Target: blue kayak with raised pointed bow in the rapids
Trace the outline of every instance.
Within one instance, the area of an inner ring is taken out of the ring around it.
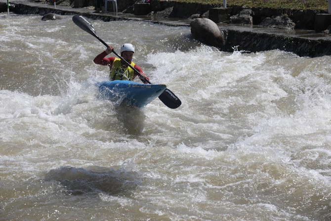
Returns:
[[[165,91],[165,85],[147,85],[132,81],[105,81],[98,84],[100,97],[116,104],[143,107]]]

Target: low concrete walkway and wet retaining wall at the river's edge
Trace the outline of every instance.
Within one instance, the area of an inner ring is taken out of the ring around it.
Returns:
[[[0,0],[0,4],[3,3],[4,0]],[[190,22],[193,20],[190,18],[167,19],[152,15],[135,15],[123,12],[119,12],[118,15],[113,13],[94,13],[94,8],[91,9],[91,7],[74,8],[57,5],[54,8],[52,5],[27,0],[16,0],[11,2],[11,4],[13,6],[10,8],[10,11],[17,14],[82,14],[89,19],[100,19],[103,21],[140,20],[169,26],[190,26]],[[318,19],[330,18],[329,16],[320,16]],[[217,23],[217,25],[224,35],[224,44],[218,47],[223,51],[232,52],[235,47],[246,52],[279,49],[293,52],[298,56],[318,57],[331,55],[331,34],[325,32],[304,29],[282,30],[263,28],[256,25],[235,26],[226,23]]]

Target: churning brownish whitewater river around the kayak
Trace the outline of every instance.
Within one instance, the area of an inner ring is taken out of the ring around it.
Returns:
[[[71,16],[0,14],[0,221],[331,219],[331,56],[91,22],[182,105],[102,100],[105,47]]]

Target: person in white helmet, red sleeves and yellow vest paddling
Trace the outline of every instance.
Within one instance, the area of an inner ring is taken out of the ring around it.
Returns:
[[[133,81],[133,79],[137,76],[132,68],[130,68],[124,61],[121,61],[120,58],[117,57],[106,57],[114,50],[114,47],[108,45],[105,51],[102,51],[98,54],[93,62],[95,64],[107,65],[110,68],[109,78],[110,80],[129,80]],[[124,58],[133,68],[135,68],[142,76],[144,76],[147,80],[149,78],[142,72],[141,68],[132,62],[132,57],[134,53],[134,46],[132,44],[123,44],[121,46],[121,57]],[[140,80],[144,84],[148,84],[148,82],[144,81],[140,78]]]

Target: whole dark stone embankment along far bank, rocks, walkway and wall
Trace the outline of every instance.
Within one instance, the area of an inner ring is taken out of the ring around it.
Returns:
[[[0,11],[4,12],[3,5]],[[163,1],[154,0],[152,4],[139,3],[135,0],[121,0],[118,3],[120,13],[118,16],[108,13],[95,13],[94,6],[89,5],[93,0],[62,0],[61,4],[52,7],[51,4],[42,4],[42,0],[16,0],[12,1],[14,7],[11,11],[17,14],[40,14],[55,13],[59,15],[72,15],[81,13],[90,19],[100,19],[104,21],[112,20],[146,20],[154,23],[163,23],[166,25],[187,25],[194,18],[207,17],[218,24],[218,27],[224,35],[224,44],[218,46],[220,50],[233,51],[234,47],[238,50],[247,52],[257,52],[263,50],[280,49],[296,53],[299,56],[323,56],[331,55],[331,35],[326,32],[315,31],[316,25],[328,27],[326,23],[317,23],[318,14],[326,14],[323,11],[314,10],[290,10],[290,9],[270,9],[270,8],[250,8],[252,24],[234,25],[228,23],[231,16],[238,15],[244,8],[241,6],[231,6],[222,9],[221,5],[208,5],[196,3],[182,3],[174,0]],[[43,0],[50,1],[50,0]],[[52,3],[53,0],[51,0]],[[110,2],[111,3],[111,2]],[[90,6],[90,7],[86,7]],[[108,5],[109,11],[112,10],[112,4]],[[145,9],[142,9],[144,8]],[[146,9],[146,7],[148,7]],[[139,11],[137,9],[139,8]],[[6,8],[5,8],[6,11]],[[147,15],[141,15],[149,13]],[[215,14],[215,11],[217,13]],[[295,23],[294,30],[262,28],[259,25],[263,19],[286,15]],[[327,15],[329,16],[329,15]],[[167,20],[167,18],[171,18]],[[173,18],[178,18],[174,21]],[[170,21],[171,20],[171,21]],[[331,21],[330,21],[331,22]],[[320,28],[321,29],[321,28]]]

